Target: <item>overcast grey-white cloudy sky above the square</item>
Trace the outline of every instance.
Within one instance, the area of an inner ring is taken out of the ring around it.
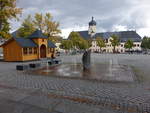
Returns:
[[[136,30],[150,36],[150,0],[17,0],[17,6],[23,8],[21,20],[36,12],[52,13],[63,37],[73,30],[87,30],[92,16],[97,32]],[[11,23],[12,31],[20,26]]]

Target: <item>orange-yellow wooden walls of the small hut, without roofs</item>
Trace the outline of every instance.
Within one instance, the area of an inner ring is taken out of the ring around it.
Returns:
[[[18,45],[15,40],[12,40],[3,46],[4,49],[4,60],[5,61],[28,61],[28,60],[36,60],[40,59],[40,47],[42,44],[46,46],[46,56],[47,58],[51,58],[52,54],[55,56],[54,52],[49,53],[47,47],[47,39],[33,39],[35,43],[39,46],[37,47],[37,54],[24,54],[23,48]]]

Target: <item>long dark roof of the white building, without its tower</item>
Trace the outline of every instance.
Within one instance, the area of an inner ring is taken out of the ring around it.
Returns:
[[[90,39],[90,35],[88,31],[77,31],[81,37],[85,40]],[[132,40],[134,42],[140,42],[141,37],[135,31],[120,31],[120,32],[103,32],[103,33],[96,33],[95,37],[102,37],[103,39],[108,39],[112,35],[117,35],[120,38],[121,42],[126,42],[127,40]]]

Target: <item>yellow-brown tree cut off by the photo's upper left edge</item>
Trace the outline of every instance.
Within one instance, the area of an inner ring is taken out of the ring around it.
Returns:
[[[10,30],[10,19],[18,19],[17,15],[22,12],[16,7],[16,0],[0,0],[0,36],[8,38]]]

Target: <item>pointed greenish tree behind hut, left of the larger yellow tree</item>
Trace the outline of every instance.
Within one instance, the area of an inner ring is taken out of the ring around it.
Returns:
[[[28,37],[35,31],[35,26],[32,20],[31,15],[28,15],[26,19],[24,19],[21,27],[18,30],[18,36],[20,37]]]

